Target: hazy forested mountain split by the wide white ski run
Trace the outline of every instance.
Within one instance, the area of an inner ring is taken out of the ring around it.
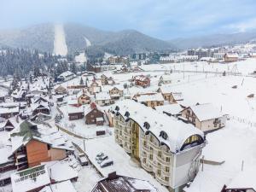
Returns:
[[[128,55],[134,52],[174,48],[165,41],[151,38],[134,30],[106,32],[89,26],[67,24],[64,25],[64,32],[67,49],[70,54],[87,49],[89,55],[102,55],[105,51],[111,54]],[[0,32],[0,45],[2,47],[38,49],[38,51],[52,52],[54,38],[54,25],[42,24]]]

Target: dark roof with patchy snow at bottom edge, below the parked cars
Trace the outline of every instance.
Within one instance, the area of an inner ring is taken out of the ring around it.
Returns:
[[[144,192],[158,192],[158,189],[148,181],[137,179],[133,177],[119,176],[116,172],[108,174],[108,177],[98,181],[90,192],[109,192],[114,189],[116,192],[129,191],[144,191]]]

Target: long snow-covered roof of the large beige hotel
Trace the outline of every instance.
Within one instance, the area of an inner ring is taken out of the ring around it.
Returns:
[[[125,117],[126,112],[129,112],[130,119],[135,120],[137,124],[141,126],[143,131],[151,131],[160,142],[166,143],[172,153],[179,152],[186,139],[193,135],[199,135],[204,138],[204,133],[193,125],[184,124],[177,119],[159,113],[138,102],[124,100],[117,102],[114,106],[119,106],[119,113],[123,117]],[[114,109],[115,107],[113,107],[112,110],[116,112]],[[145,122],[150,125],[149,130],[144,127]],[[168,135],[166,140],[160,137],[161,131],[165,131]]]

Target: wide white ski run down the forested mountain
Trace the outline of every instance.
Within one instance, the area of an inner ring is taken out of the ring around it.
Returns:
[[[60,24],[55,25],[54,54],[61,56],[67,55],[67,44],[64,27]]]

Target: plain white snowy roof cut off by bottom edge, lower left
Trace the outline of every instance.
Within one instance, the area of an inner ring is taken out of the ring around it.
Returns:
[[[39,192],[76,192],[74,189],[73,183],[70,181],[65,181],[61,183],[51,184],[41,189]]]

